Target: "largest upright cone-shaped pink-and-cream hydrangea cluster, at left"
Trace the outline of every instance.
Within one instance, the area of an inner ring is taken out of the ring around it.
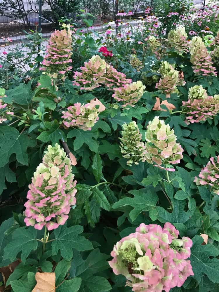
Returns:
[[[43,162],[37,166],[27,193],[24,219],[27,226],[48,230],[64,225],[77,192],[71,160],[57,143],[48,146]]]

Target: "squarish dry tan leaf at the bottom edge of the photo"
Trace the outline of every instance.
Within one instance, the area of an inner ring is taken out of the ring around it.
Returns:
[[[55,273],[39,273],[35,275],[36,286],[32,292],[55,292]]]

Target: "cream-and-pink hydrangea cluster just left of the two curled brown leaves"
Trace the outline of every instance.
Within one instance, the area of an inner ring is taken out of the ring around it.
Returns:
[[[113,88],[113,90],[114,94],[112,97],[118,101],[124,102],[122,107],[126,107],[127,105],[134,107],[134,104],[142,97],[145,86],[142,84],[142,81],[138,80],[131,84],[124,84],[121,87]]]

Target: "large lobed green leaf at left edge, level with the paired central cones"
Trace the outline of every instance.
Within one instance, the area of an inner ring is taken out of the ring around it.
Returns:
[[[27,147],[34,147],[36,140],[25,134],[20,134],[16,128],[0,127],[0,167],[6,165],[11,154],[15,153],[17,161],[28,164]]]

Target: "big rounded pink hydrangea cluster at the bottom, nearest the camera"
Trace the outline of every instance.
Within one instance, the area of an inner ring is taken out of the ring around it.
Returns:
[[[187,259],[192,240],[178,239],[179,231],[171,223],[163,228],[141,223],[135,231],[114,245],[109,261],[114,274],[124,275],[132,291],[169,292],[194,275]]]

